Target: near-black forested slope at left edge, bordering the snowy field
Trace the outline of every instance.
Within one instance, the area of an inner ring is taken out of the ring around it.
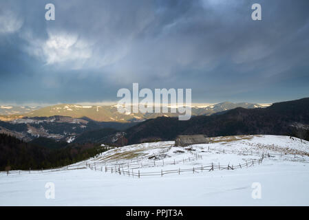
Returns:
[[[29,170],[66,166],[105,151],[99,144],[68,144],[47,148],[0,134],[0,170]]]

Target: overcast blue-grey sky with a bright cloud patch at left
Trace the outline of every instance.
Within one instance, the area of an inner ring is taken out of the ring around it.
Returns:
[[[0,0],[0,103],[115,102],[132,83],[192,89],[196,103],[308,97],[308,9],[308,0]]]

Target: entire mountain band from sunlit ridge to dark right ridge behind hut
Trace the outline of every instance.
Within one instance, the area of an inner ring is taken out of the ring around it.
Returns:
[[[57,113],[59,115],[56,115]],[[107,115],[119,118],[118,121],[101,122],[85,115],[92,118],[100,115],[101,119]],[[140,113],[140,120],[133,120],[136,115],[120,114],[115,106],[83,107],[61,104],[0,121],[0,133],[18,137],[26,142],[38,137],[47,137],[57,142],[94,142],[115,146],[174,140],[177,135],[186,134],[274,134],[306,138],[309,131],[309,98],[278,102],[265,108],[258,104],[231,102],[222,102],[210,107],[193,107],[193,117],[187,121],[180,121],[177,115],[171,113]]]

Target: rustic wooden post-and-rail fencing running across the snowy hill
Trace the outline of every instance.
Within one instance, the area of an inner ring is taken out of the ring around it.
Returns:
[[[167,153],[169,149],[164,149],[160,151],[160,153]],[[215,152],[215,153],[237,153],[238,155],[254,155],[257,157],[261,157],[261,159],[253,159],[253,165],[256,163],[262,162],[264,157],[286,157],[288,159],[302,159],[303,162],[306,162],[306,159],[303,159],[303,157],[308,156],[306,154],[299,155],[295,150],[295,153],[260,153],[260,151],[253,151],[253,150],[225,150],[223,149],[222,151],[217,150],[217,149],[211,149],[208,148],[208,152]],[[6,173],[7,175],[20,175],[23,173],[50,173],[50,172],[56,172],[56,171],[61,171],[61,170],[75,170],[75,169],[84,169],[84,168],[91,168],[92,170],[100,170],[100,171],[105,171],[105,172],[111,172],[111,173],[120,173],[123,175],[129,175],[133,177],[141,177],[143,175],[165,175],[168,173],[183,173],[183,172],[193,172],[193,173],[198,173],[198,170],[203,171],[203,170],[215,170],[215,169],[235,169],[235,168],[242,168],[244,166],[250,166],[250,164],[239,164],[237,166],[220,166],[220,165],[207,165],[207,166],[201,166],[199,168],[190,168],[190,169],[178,169],[178,170],[161,170],[161,172],[155,172],[153,174],[151,173],[140,173],[134,172],[134,170],[140,169],[140,168],[146,168],[146,167],[153,167],[153,166],[165,166],[165,165],[175,165],[175,164],[184,164],[185,162],[191,162],[195,161],[198,159],[202,159],[202,155],[198,155],[198,153],[192,153],[194,157],[188,157],[185,159],[179,159],[179,160],[173,160],[173,161],[164,161],[164,159],[156,160],[153,159],[153,162],[145,162],[145,159],[131,159],[129,162],[109,162],[108,164],[106,162],[85,162],[85,164],[73,164],[69,166],[63,166],[63,167],[56,167],[56,168],[48,168],[48,169],[32,169],[29,168],[29,170],[10,170],[10,171],[1,171],[0,173]],[[257,160],[257,161],[256,161]],[[103,169],[103,164],[104,164],[104,169]],[[211,166],[211,168],[210,168]],[[130,171],[131,170],[131,171]],[[140,173],[140,174],[138,174]]]

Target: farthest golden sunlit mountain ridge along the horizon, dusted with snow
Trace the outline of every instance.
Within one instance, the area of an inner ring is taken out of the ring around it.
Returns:
[[[72,118],[87,117],[98,122],[142,122],[150,118],[157,118],[159,116],[177,117],[178,113],[119,113],[117,105],[110,106],[94,106],[94,105],[80,105],[80,104],[56,104],[49,107],[9,107],[2,106],[0,109],[0,120],[11,121],[18,118],[28,117],[50,117],[54,115],[67,116]],[[233,103],[222,102],[213,104],[209,107],[192,107],[192,115],[211,115],[229,109],[242,107],[246,109],[260,108],[260,104],[251,104],[247,102]],[[24,110],[21,112],[21,109]],[[19,114],[17,114],[19,110]],[[170,109],[169,109],[170,112]],[[1,115],[2,114],[2,115]]]

